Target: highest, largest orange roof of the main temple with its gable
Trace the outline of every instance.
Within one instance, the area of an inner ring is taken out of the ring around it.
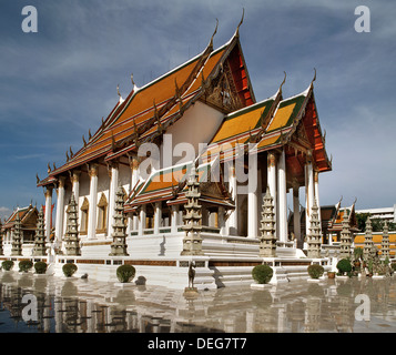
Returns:
[[[221,75],[219,75],[221,73]],[[227,100],[222,93],[229,91]],[[111,161],[138,151],[144,142],[155,142],[166,129],[183,116],[194,102],[201,101],[230,113],[255,102],[247,68],[238,40],[213,50],[213,37],[197,57],[177,67],[143,88],[136,88],[114,109],[89,141],[74,154],[67,152],[67,163],[49,169],[49,176],[38,186],[57,181],[57,176],[95,159]]]

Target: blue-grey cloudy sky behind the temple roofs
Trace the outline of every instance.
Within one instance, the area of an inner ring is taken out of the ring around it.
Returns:
[[[24,33],[22,8],[38,11]],[[370,32],[355,31],[355,8]],[[241,42],[257,100],[304,91],[315,97],[333,172],[321,203],[358,209],[396,203],[396,6],[369,0],[0,0],[0,216],[44,203],[35,174],[65,162],[94,132],[133,73],[139,87],[196,55],[219,19],[215,48],[241,20]],[[54,197],[55,200],[55,197]]]

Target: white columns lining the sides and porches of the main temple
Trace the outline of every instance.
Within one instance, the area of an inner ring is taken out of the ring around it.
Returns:
[[[251,165],[251,164],[250,164]],[[254,165],[254,164],[253,164]],[[247,192],[247,237],[258,237],[258,221],[260,212],[262,204],[262,181],[261,181],[261,170],[260,166],[254,165],[250,166],[250,174],[257,174],[257,184],[255,189]],[[286,158],[285,151],[282,150],[280,153],[268,152],[267,153],[267,164],[266,164],[266,176],[267,185],[270,187],[270,193],[274,201],[274,212],[275,212],[275,227],[276,235],[280,242],[287,242],[288,240],[288,221],[287,221],[287,185],[286,185]],[[135,186],[140,176],[139,176],[139,161],[136,159],[130,160],[131,169],[131,181],[130,190]],[[88,175],[90,178],[89,182],[89,213],[88,213],[88,240],[95,237],[97,231],[97,204],[98,204],[98,164],[88,165]],[[306,164],[304,166],[305,172],[305,204],[306,204],[306,234],[309,232],[309,219],[311,219],[311,209],[316,199],[316,204],[319,205],[319,194],[318,194],[318,174],[314,171],[312,156],[307,154]],[[219,207],[217,210],[217,223],[216,225],[220,229],[222,235],[237,235],[238,231],[238,194],[237,194],[237,179],[235,176],[235,168],[233,164],[227,165],[229,174],[229,189],[232,195],[233,201],[235,202],[235,210],[231,213],[227,213],[227,219],[224,207]],[[73,171],[71,173],[72,182],[72,193],[74,194],[75,201],[79,201],[80,192],[80,171]],[[110,187],[109,187],[109,206],[108,206],[108,236],[112,234],[112,219],[114,213],[114,203],[115,203],[115,191],[119,184],[119,164],[111,164],[109,166],[109,176],[110,176]],[[65,214],[65,178],[60,176],[57,187],[57,215],[55,215],[55,239],[57,241],[62,240],[63,229],[64,229],[64,214]],[[51,220],[51,203],[52,203],[52,189],[48,187],[45,190],[45,222]],[[177,232],[177,225],[182,224],[177,205],[171,206],[169,214],[170,217],[170,227],[171,233]],[[293,183],[293,210],[294,210],[294,234],[297,239],[297,242],[301,241],[301,211],[299,211],[299,185],[296,181]],[[205,212],[204,212],[205,213]],[[148,216],[146,206],[142,205],[140,207],[139,214],[129,219],[128,232],[138,231],[138,234],[143,235],[143,231],[146,227],[145,221]],[[154,205],[153,214],[153,233],[160,233],[160,227],[162,224],[162,209],[160,203]],[[205,216],[203,216],[203,224],[205,223]],[[50,224],[45,223],[45,236],[47,240],[50,237]]]

